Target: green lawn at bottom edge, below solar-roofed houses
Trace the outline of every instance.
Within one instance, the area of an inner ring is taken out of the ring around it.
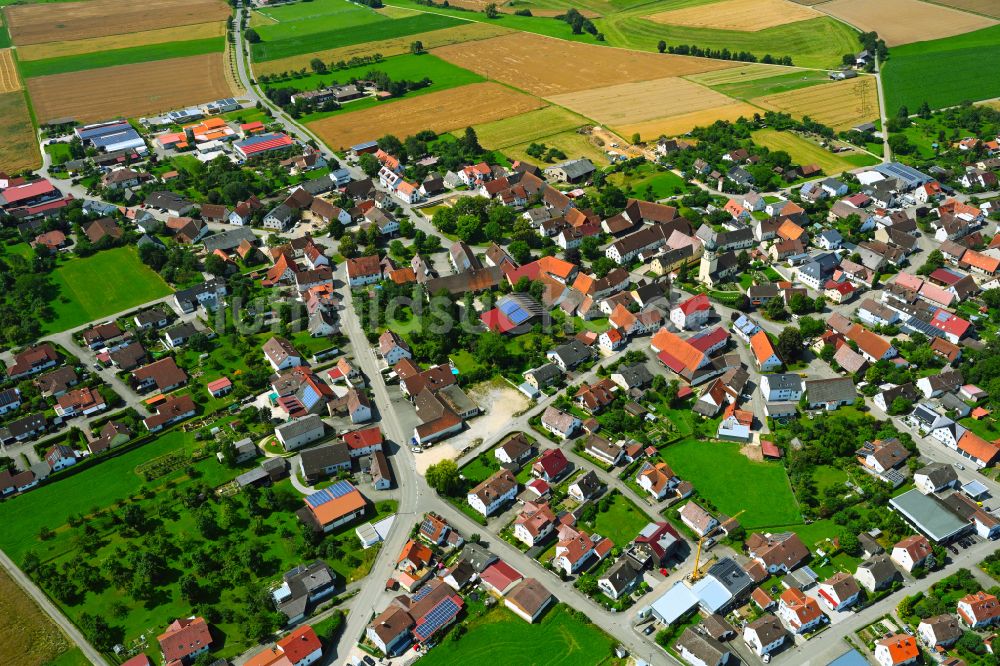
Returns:
[[[559,604],[528,624],[511,611],[495,607],[466,620],[467,632],[457,641],[445,639],[421,658],[423,666],[467,664],[487,659],[498,664],[578,666],[614,663],[616,641]]]

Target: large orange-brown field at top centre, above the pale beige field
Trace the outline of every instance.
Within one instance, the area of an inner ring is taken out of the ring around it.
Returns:
[[[434,55],[542,97],[736,66],[726,60],[594,46],[527,32],[445,46],[434,49]]]

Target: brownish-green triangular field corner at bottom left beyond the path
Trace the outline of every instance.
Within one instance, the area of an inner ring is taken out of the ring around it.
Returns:
[[[90,663],[6,571],[0,571],[0,617],[4,618],[0,662],[30,666]]]

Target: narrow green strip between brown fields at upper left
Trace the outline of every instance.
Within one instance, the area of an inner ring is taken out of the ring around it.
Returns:
[[[225,37],[209,37],[208,39],[194,39],[187,42],[167,42],[166,44],[149,44],[127,49],[82,53],[61,58],[22,60],[18,63],[18,67],[21,70],[21,76],[31,78],[64,72],[78,72],[84,69],[184,58],[204,55],[205,53],[222,53],[225,48]]]

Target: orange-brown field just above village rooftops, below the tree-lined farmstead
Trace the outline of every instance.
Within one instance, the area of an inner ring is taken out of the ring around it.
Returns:
[[[309,123],[326,145],[343,148],[390,131],[400,138],[425,129],[447,132],[526,113],[545,103],[497,83],[473,83]]]

